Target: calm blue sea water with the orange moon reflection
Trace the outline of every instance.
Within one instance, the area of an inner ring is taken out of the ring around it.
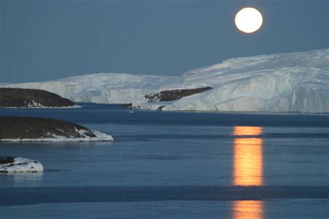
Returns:
[[[0,143],[42,174],[0,174],[0,218],[328,218],[329,116],[0,109],[113,142]]]

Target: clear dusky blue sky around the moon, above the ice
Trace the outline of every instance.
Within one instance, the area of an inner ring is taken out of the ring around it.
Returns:
[[[236,12],[258,8],[244,34]],[[83,73],[175,75],[227,58],[329,47],[329,0],[0,0],[0,82]]]

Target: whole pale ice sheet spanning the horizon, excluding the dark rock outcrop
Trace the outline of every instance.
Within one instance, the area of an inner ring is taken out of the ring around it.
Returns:
[[[142,109],[328,113],[329,49],[231,58],[181,77],[99,73],[4,86],[45,89],[76,102],[133,103]],[[212,89],[168,103],[144,98],[201,87]]]

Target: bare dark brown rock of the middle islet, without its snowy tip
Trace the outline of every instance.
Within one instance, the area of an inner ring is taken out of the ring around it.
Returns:
[[[83,131],[83,134],[79,132]],[[44,139],[96,137],[92,130],[75,123],[35,117],[0,117],[0,139]]]

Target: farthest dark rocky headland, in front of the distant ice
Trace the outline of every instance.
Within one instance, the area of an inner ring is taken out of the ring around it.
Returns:
[[[0,88],[0,107],[71,107],[74,104],[40,89]]]

